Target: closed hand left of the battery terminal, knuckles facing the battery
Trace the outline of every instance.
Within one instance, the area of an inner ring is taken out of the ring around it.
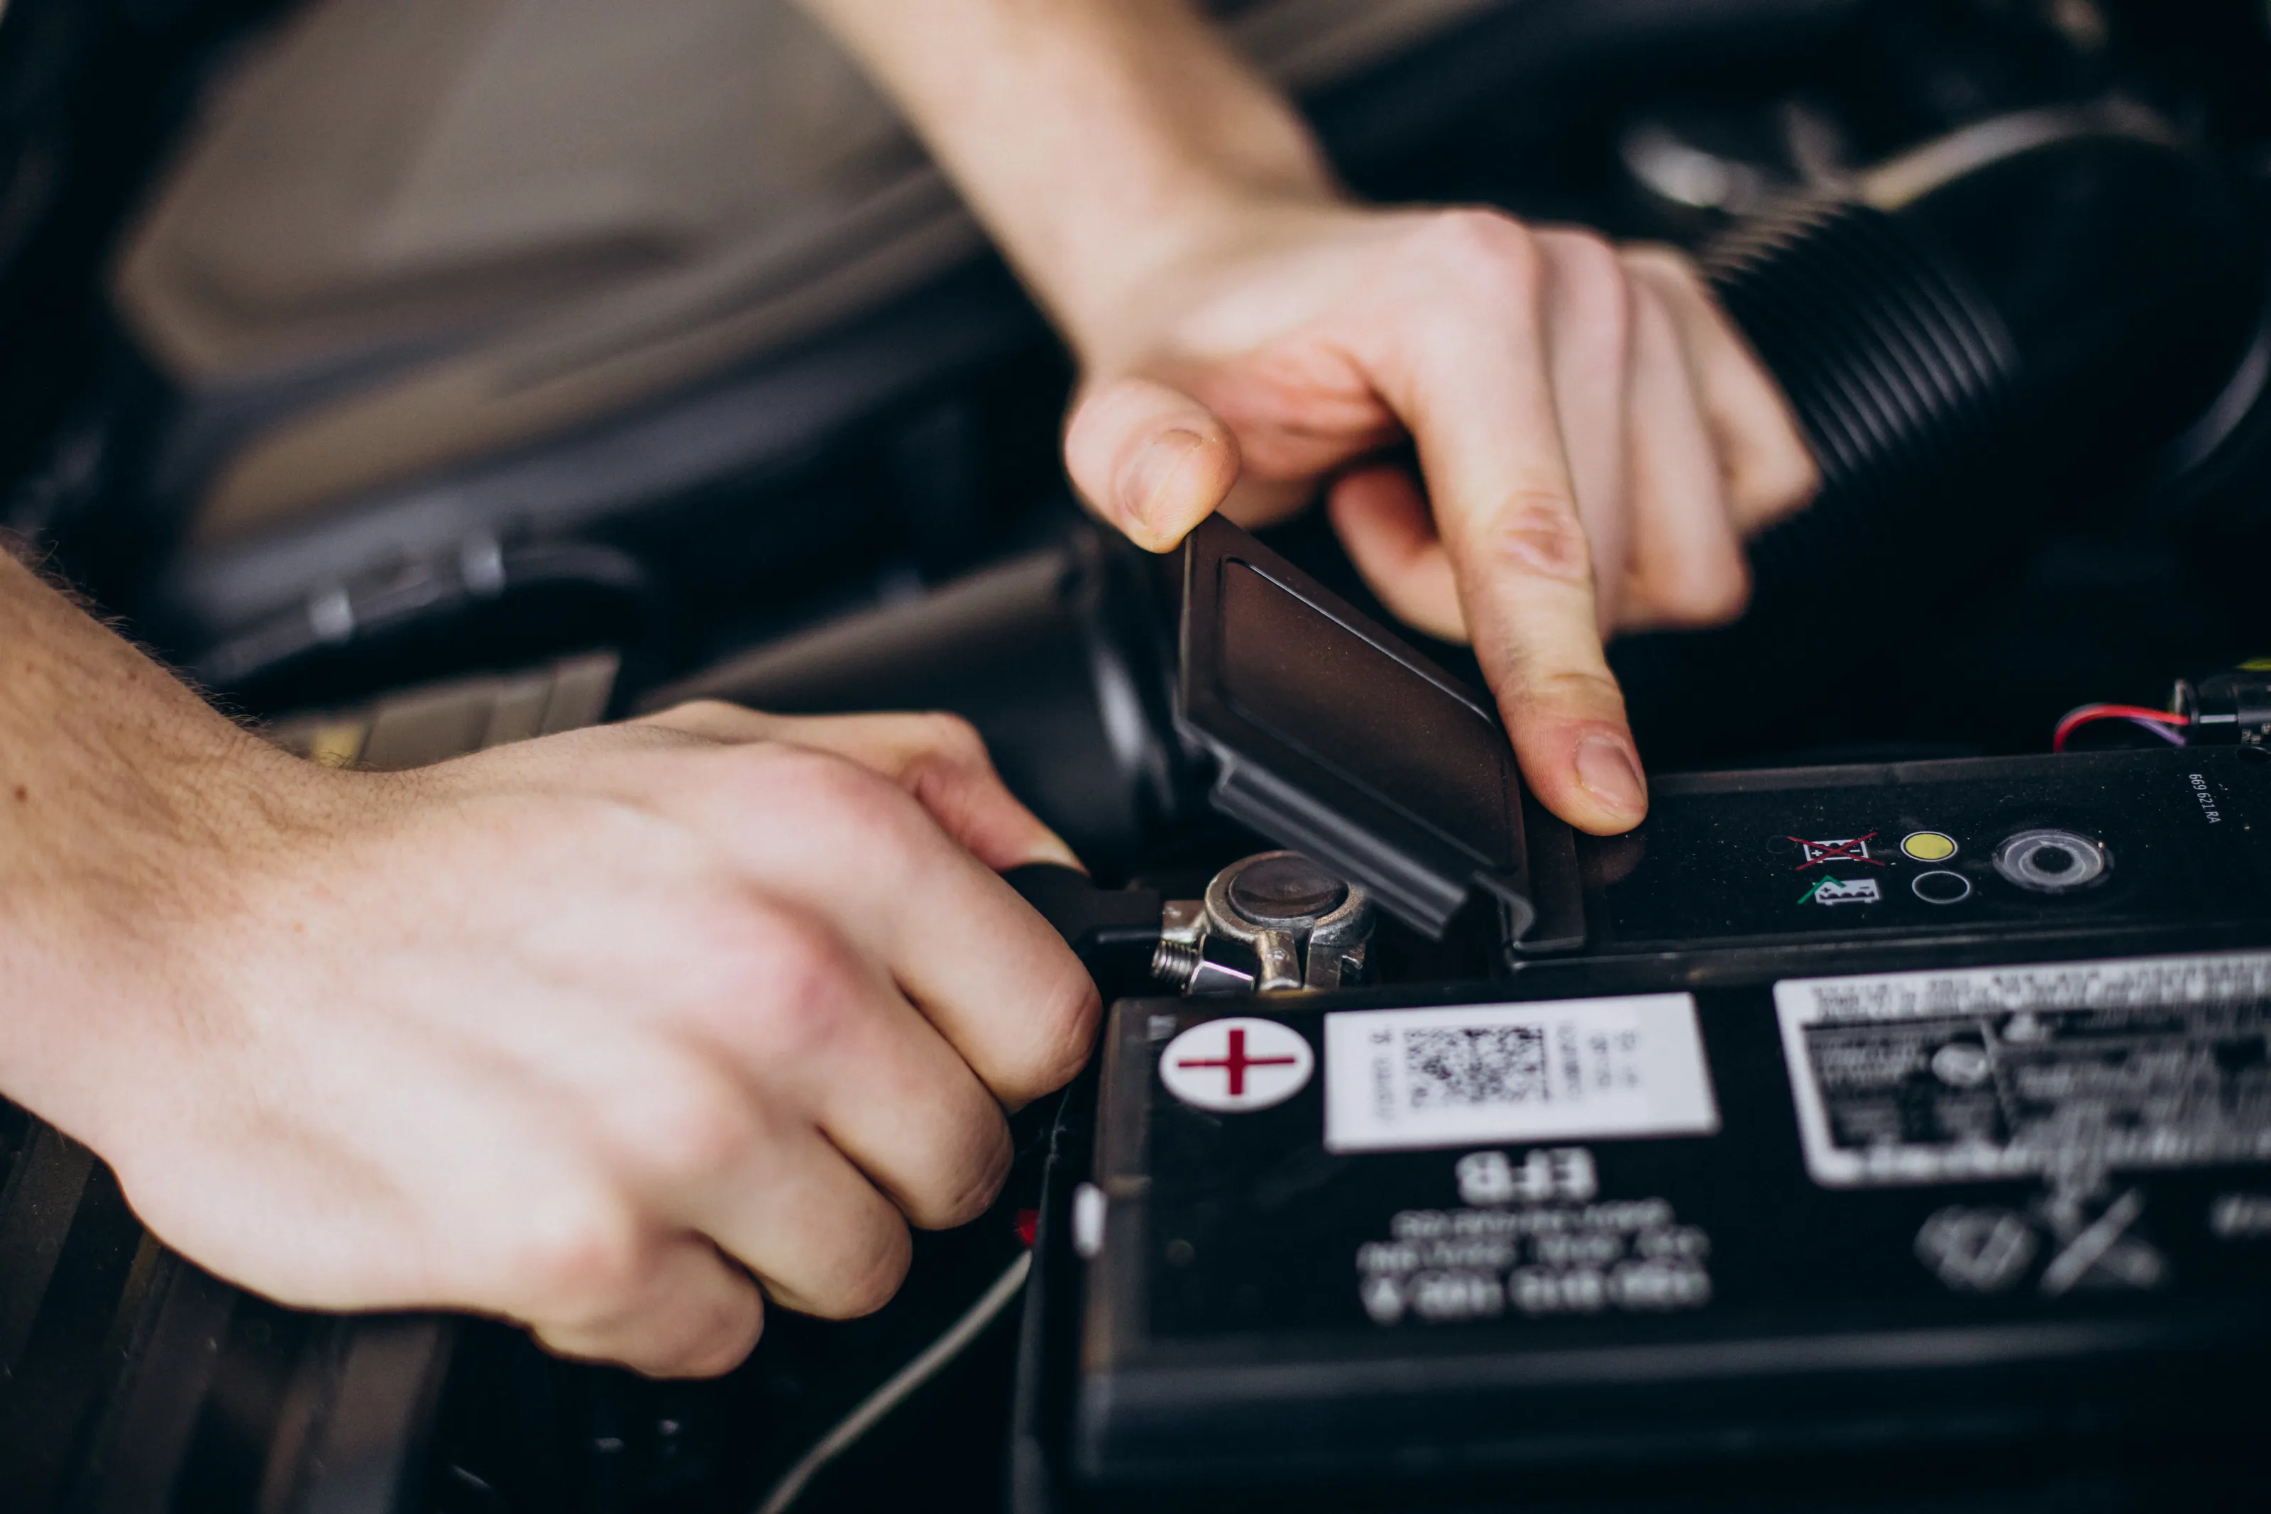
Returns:
[[[100,1051],[39,1103],[277,1301],[724,1371],[761,1289],[890,1298],[906,1226],[981,1214],[1004,1105],[1088,1053],[1095,987],[995,876],[1072,853],[956,720],[684,706],[409,774],[229,763],[254,783],[204,774],[157,949],[107,953]]]

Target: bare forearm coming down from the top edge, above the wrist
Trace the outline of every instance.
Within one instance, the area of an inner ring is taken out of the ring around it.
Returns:
[[[804,0],[883,82],[1076,345],[1256,207],[1333,197],[1292,107],[1188,0]]]

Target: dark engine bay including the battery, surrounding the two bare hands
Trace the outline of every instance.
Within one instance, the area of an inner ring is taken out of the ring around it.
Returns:
[[[1017,885],[1108,1028],[899,1298],[779,1312],[718,1382],[229,1289],[5,1108],[25,1507],[2246,1503],[2262,7],[1510,0],[1292,73],[1365,195],[1699,256],[1821,465],[1737,624],[1610,647],[1626,838],[1524,792],[1474,656],[1394,629],[1322,511],[1167,556],[1086,520],[1067,359],[974,247],[213,527],[368,370],[200,386],[139,334],[102,268],[275,7],[100,9],[0,27],[0,104],[73,148],[0,266],[0,524],[329,765],[686,699],[965,715],[1090,867]],[[95,134],[59,77],[166,86]]]

